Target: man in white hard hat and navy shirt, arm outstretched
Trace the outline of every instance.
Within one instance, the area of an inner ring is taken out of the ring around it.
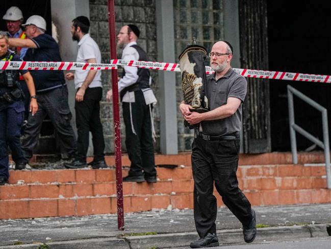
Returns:
[[[29,39],[9,38],[9,44],[15,47],[29,48],[26,61],[62,61],[58,43],[45,34],[46,21],[40,15],[30,16],[22,27]],[[68,88],[60,70],[32,70],[36,85],[39,109],[30,115],[23,131],[21,143],[26,163],[31,159],[37,145],[42,121],[48,115],[61,139],[63,149],[69,157],[75,157],[77,145],[70,125],[71,112],[68,105]]]

